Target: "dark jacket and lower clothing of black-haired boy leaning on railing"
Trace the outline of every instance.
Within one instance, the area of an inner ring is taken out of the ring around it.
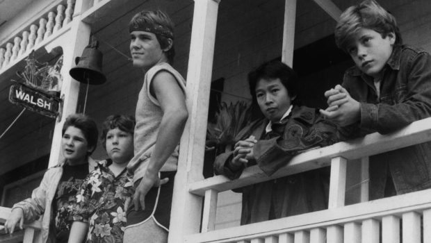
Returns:
[[[298,153],[336,142],[336,126],[325,121],[314,108],[294,107],[291,115],[266,134],[268,120],[254,121],[244,128],[238,137],[245,140],[257,137],[253,153],[258,165],[266,174],[273,174],[286,165]],[[233,152],[222,153],[215,159],[215,173],[230,179],[241,176],[245,167],[234,170],[229,167]],[[327,208],[329,167],[306,171],[272,181],[257,183],[238,189],[243,192],[241,224],[298,215]]]

